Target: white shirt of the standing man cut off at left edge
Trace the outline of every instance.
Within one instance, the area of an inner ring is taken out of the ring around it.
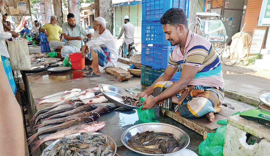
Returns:
[[[6,58],[9,58],[5,40],[10,39],[12,35],[10,32],[4,32],[2,19],[3,19],[3,15],[0,13],[0,53],[1,53],[1,56],[5,56]]]

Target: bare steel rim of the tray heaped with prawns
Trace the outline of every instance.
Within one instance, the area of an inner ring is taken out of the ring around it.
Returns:
[[[115,153],[116,153],[116,150],[117,150],[117,146],[116,146],[116,143],[115,143],[115,141],[110,137],[110,136],[108,136],[108,135],[106,135],[106,134],[102,134],[102,133],[98,133],[98,132],[84,132],[84,133],[87,133],[88,135],[95,135],[95,134],[100,134],[100,135],[103,135],[103,137],[107,137],[108,139],[110,139],[112,142],[113,142],[113,144],[111,145],[112,146],[112,148],[113,148],[113,155],[112,156],[114,156],[115,155]],[[75,137],[75,136],[78,136],[78,135],[81,135],[81,134],[84,134],[84,133],[74,133],[74,134],[71,134],[71,135],[68,135],[68,136],[66,136],[66,137],[69,137],[69,138],[72,138],[72,137]],[[65,137],[65,138],[66,138]],[[61,139],[61,138],[60,138]],[[52,144],[50,144],[46,149],[44,149],[44,151],[42,152],[42,155],[41,156],[48,156],[48,154],[49,154],[49,151],[60,141],[60,139],[58,139],[58,140],[55,140]]]

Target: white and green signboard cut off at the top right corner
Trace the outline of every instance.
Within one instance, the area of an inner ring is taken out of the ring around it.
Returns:
[[[263,0],[258,26],[270,26],[270,0]]]

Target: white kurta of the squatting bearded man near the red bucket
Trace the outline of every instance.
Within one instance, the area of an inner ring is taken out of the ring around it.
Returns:
[[[108,29],[105,29],[99,37],[88,41],[86,45],[89,49],[94,46],[106,47],[110,52],[110,61],[107,63],[104,69],[106,67],[116,67],[116,61],[118,59],[116,42]]]

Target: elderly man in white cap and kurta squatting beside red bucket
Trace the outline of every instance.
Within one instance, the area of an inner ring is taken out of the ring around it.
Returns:
[[[85,73],[86,77],[100,76],[98,65],[103,67],[116,67],[118,53],[116,42],[111,32],[106,29],[106,21],[103,17],[97,17],[93,26],[94,39],[88,41],[82,48],[82,57],[88,56],[92,61],[90,67],[92,71]],[[89,50],[88,50],[89,49]]]

